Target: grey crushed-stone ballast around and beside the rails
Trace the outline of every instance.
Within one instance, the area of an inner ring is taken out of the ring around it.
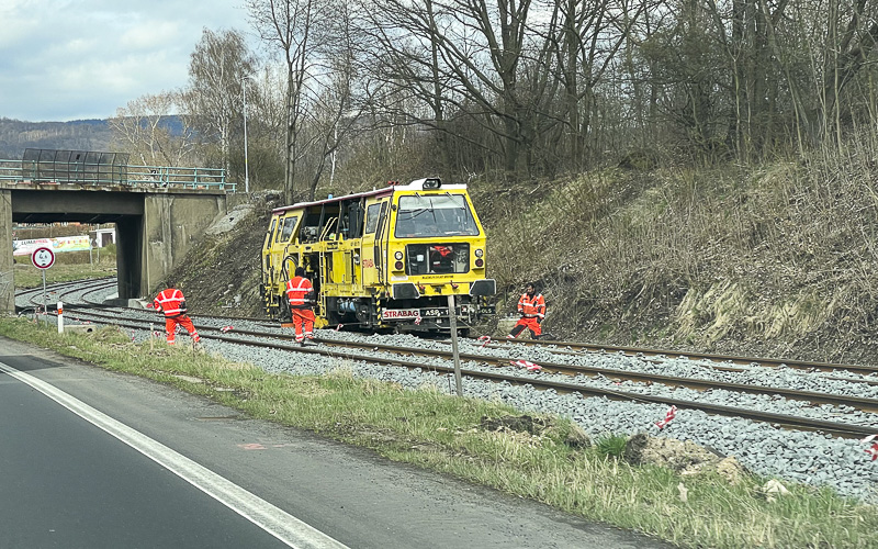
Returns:
[[[111,291],[113,290],[108,290],[106,293]],[[67,299],[72,302],[77,298],[68,296]],[[95,294],[90,294],[88,299],[94,300],[97,298]],[[65,312],[66,322],[72,322],[72,318],[77,316],[75,306],[68,305]],[[130,313],[131,311],[126,311],[126,315]],[[156,323],[155,329],[164,329],[162,321],[155,312],[138,311],[135,314],[145,321]],[[237,329],[267,329],[264,325],[246,321],[196,317],[195,322],[198,325],[217,328],[232,324]],[[146,340],[149,337],[148,329],[131,332],[134,339],[138,341]],[[243,339],[251,338],[236,335],[235,332],[233,329],[227,335]],[[274,332],[286,336],[292,333],[291,329],[281,329],[280,327],[274,328]],[[205,332],[205,334],[207,333]],[[324,329],[316,330],[316,336],[325,339],[405,346],[413,349],[450,349],[450,345],[447,341],[427,340],[409,335],[376,336]],[[179,340],[185,344],[188,335],[183,334]],[[390,381],[408,389],[434,386],[449,394],[454,394],[453,377],[430,370],[432,366],[450,366],[450,361],[437,360],[431,362],[428,359],[418,358],[417,360],[424,362],[424,368],[418,371],[409,371],[404,368],[368,365],[340,357],[327,358],[285,350],[251,348],[212,339],[205,340],[204,347],[207,351],[216,352],[229,360],[250,362],[270,372],[323,374],[337,369],[347,369],[358,377]],[[481,344],[474,339],[461,340],[460,351],[525,359],[537,363],[541,361],[576,363],[615,370],[653,372],[665,376],[878,399],[877,386],[857,381],[863,379],[876,380],[878,378],[875,376],[864,377],[851,372],[812,373],[788,368],[767,369],[756,365],[741,367],[744,369],[742,372],[727,372],[711,368],[709,362],[685,358],[665,357],[656,362],[654,357],[645,360],[640,357],[627,357],[616,354],[569,354],[569,351],[560,354],[553,352],[552,349],[533,349],[524,345],[481,347]],[[353,349],[350,352],[365,354],[368,351]],[[385,355],[376,350],[371,354]],[[736,366],[740,367],[739,365]],[[461,368],[464,370],[496,371],[484,365],[471,361],[462,361]],[[551,374],[531,373],[521,369],[519,370],[519,376],[544,378]],[[830,379],[838,377],[845,379]],[[562,376],[560,379],[571,381],[569,377]],[[778,414],[867,425],[875,427],[875,433],[878,434],[878,415],[864,413],[849,406],[815,406],[807,402],[790,401],[776,395],[754,395],[720,390],[698,392],[689,389],[673,389],[657,383],[645,384],[631,381],[614,383],[606,378],[578,377],[576,382],[610,390],[697,400]],[[878,486],[878,461],[871,461],[866,452],[869,445],[858,440],[832,438],[829,435],[815,433],[785,430],[748,419],[709,415],[691,410],[679,411],[676,418],[663,430],[660,430],[655,426],[655,422],[665,417],[665,413],[668,410],[666,405],[610,401],[604,397],[584,397],[579,394],[559,394],[551,390],[537,391],[529,385],[517,386],[508,383],[492,383],[466,377],[463,380],[463,388],[464,394],[469,397],[497,400],[526,412],[550,413],[570,417],[593,437],[609,433],[617,435],[646,433],[652,436],[691,440],[720,455],[735,456],[744,467],[753,472],[778,478],[781,481],[800,482],[813,486],[830,486],[843,495],[858,497],[869,503],[878,503],[878,488],[876,488]]]

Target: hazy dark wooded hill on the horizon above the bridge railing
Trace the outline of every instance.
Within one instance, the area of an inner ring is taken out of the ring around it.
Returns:
[[[25,148],[109,150],[112,137],[105,120],[24,122],[0,117],[0,160],[19,160]]]

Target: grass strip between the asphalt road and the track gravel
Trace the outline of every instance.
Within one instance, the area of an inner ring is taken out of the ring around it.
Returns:
[[[729,484],[714,473],[632,467],[616,457],[612,435],[587,448],[566,444],[572,426],[560,418],[540,418],[545,428],[536,433],[486,428],[485,418],[520,412],[431,385],[405,391],[357,379],[345,361],[327,376],[293,377],[159,340],[135,345],[114,328],[58,335],[3,318],[0,335],[680,547],[876,547],[878,509],[829,490],[791,485],[788,495],[770,498],[757,477]]]

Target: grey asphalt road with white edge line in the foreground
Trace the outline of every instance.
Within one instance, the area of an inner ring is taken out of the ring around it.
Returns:
[[[668,547],[0,338],[0,549]]]

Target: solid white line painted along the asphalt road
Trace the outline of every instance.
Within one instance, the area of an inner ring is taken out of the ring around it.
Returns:
[[[49,383],[20,372],[3,362],[0,362],[0,371],[29,384],[70,412],[127,444],[288,546],[297,549],[347,548],[346,545],[308,526],[285,511]]]

